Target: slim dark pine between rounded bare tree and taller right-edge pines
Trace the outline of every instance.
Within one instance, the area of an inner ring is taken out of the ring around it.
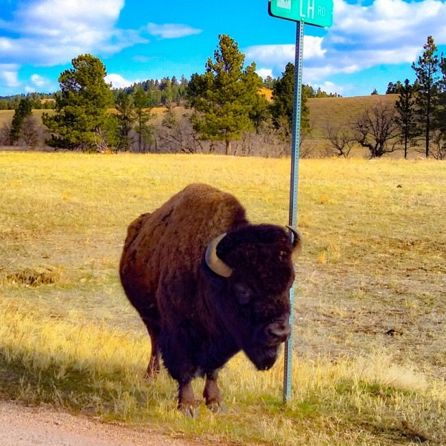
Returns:
[[[411,85],[408,79],[404,81],[404,84],[399,82],[397,86],[397,93],[399,93],[399,97],[395,103],[395,109],[397,110],[395,121],[399,127],[401,142],[404,143],[405,159],[408,157],[408,143],[417,134],[416,92],[418,89],[418,84],[415,83]]]

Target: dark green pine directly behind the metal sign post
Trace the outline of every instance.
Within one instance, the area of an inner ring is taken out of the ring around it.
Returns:
[[[272,90],[270,112],[274,126],[279,128],[283,119],[288,124],[287,133],[291,134],[294,108],[294,64],[288,62],[282,77]],[[307,88],[303,85],[301,92],[301,134],[309,131],[309,108],[307,105]]]

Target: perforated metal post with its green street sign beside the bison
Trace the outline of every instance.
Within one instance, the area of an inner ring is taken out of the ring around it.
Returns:
[[[296,22],[296,60],[294,64],[294,109],[291,151],[290,226],[297,226],[297,185],[299,174],[299,145],[301,141],[303,24],[329,27],[333,23],[333,0],[269,0],[270,16]],[[294,283],[290,288],[290,339],[285,343],[283,371],[283,402],[291,398],[292,352],[294,331]]]

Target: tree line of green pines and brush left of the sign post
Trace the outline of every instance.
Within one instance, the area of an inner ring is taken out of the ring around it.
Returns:
[[[180,81],[164,78],[112,90],[102,61],[80,55],[60,73],[54,113],[42,115],[45,144],[93,152],[284,155],[290,147],[294,65],[287,64],[282,77],[274,80],[270,104],[261,94],[264,84],[255,73],[255,62],[245,66],[244,59],[233,38],[222,34],[204,73],[194,73],[189,81],[184,76]],[[309,128],[306,92],[303,88],[304,132]],[[161,119],[154,118],[152,109],[159,103],[165,106]],[[116,111],[110,111],[113,105]],[[23,140],[32,145],[35,119],[24,111],[29,108],[30,101],[21,98],[13,122],[1,129],[3,143],[9,139],[13,144]],[[23,132],[27,137],[22,137]]]

